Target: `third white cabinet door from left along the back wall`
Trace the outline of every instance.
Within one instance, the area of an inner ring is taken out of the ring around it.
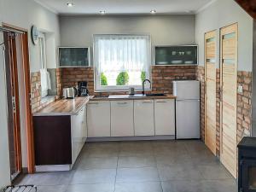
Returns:
[[[135,136],[154,136],[154,100],[134,101]]]

